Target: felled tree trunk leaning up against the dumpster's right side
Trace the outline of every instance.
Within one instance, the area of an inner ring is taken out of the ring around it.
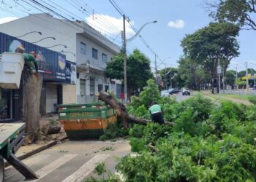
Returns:
[[[135,116],[132,116],[131,114],[128,114],[126,111],[126,108],[123,103],[118,102],[115,98],[112,97],[112,95],[108,94],[108,92],[101,91],[99,92],[99,100],[104,101],[109,106],[114,108],[116,110],[116,114],[118,116],[121,116],[124,128],[128,128],[129,122],[134,122],[137,124],[147,124],[149,121],[146,119],[141,119]],[[169,126],[173,126],[173,122],[165,122],[165,124]]]

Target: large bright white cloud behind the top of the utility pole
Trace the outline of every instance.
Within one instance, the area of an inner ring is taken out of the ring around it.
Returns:
[[[116,18],[110,17],[109,15],[100,15],[94,14],[94,16],[90,15],[86,17],[86,21],[91,25],[91,27],[95,28],[97,31],[102,34],[118,34],[123,30],[123,17]],[[133,22],[132,22],[133,24]],[[127,38],[134,35],[135,32],[132,30],[131,25],[126,22],[126,35]],[[111,35],[113,36],[113,35]]]

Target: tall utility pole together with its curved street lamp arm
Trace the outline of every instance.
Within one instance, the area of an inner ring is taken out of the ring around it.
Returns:
[[[129,39],[126,39],[126,33],[125,33],[125,20],[126,17],[123,15],[123,20],[124,20],[124,31],[123,31],[123,52],[124,52],[124,102],[127,103],[127,42],[134,40],[139,34],[140,31],[148,24],[150,23],[157,23],[157,21],[153,22],[148,22],[145,23],[141,28],[137,31],[137,33],[132,36]]]

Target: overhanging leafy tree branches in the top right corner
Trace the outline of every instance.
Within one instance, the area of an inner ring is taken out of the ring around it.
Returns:
[[[255,3],[255,0],[218,0],[206,2],[206,5],[210,8],[210,16],[218,22],[236,23],[243,29],[256,31]]]

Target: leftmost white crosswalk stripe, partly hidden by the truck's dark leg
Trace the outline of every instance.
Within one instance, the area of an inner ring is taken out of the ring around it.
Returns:
[[[38,154],[34,157],[29,157],[28,159],[24,159],[23,162],[25,165],[29,166],[35,162],[42,162],[43,160],[47,159],[49,156],[50,154]],[[10,178],[11,176],[16,175],[18,173],[19,172],[10,165],[10,167],[7,167],[6,169],[4,179]]]

